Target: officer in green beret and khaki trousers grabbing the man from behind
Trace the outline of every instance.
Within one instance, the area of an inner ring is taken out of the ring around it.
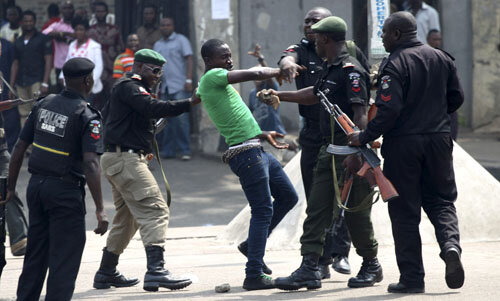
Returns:
[[[147,155],[152,152],[155,118],[188,112],[199,100],[152,98],[151,88],[160,80],[164,64],[165,59],[156,51],[137,51],[132,73],[115,84],[105,108],[105,153],[101,165],[111,183],[116,214],[94,277],[97,289],[139,282],[116,270],[120,254],[137,229],[147,255],[144,289],[157,291],[161,286],[173,290],[191,284],[188,278],[174,277],[163,267],[169,209],[148,168]]]

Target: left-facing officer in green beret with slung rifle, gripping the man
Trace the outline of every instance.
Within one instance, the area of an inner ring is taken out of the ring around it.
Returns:
[[[366,109],[368,102],[367,78],[368,73],[361,64],[349,56],[345,47],[347,25],[338,17],[327,17],[314,24],[311,29],[317,33],[316,51],[320,57],[326,58],[320,79],[314,87],[299,91],[272,91],[283,101],[301,104],[317,103],[317,91],[322,91],[332,103],[339,107],[364,128],[366,125]],[[330,115],[321,110],[318,112],[320,133],[323,145],[319,151],[315,166],[314,179],[310,192],[304,221],[304,233],[300,239],[303,256],[301,266],[289,277],[275,280],[276,287],[286,290],[301,287],[321,287],[321,276],[318,271],[318,260],[323,251],[324,229],[328,228],[333,216],[338,215],[338,206],[334,206],[332,157],[326,153],[326,146],[332,143],[347,144],[347,138],[339,127],[335,127],[332,137]],[[333,138],[333,139],[332,139]],[[357,156],[335,156],[337,175],[342,177],[347,165],[351,173],[360,167]],[[355,178],[349,204],[357,206],[369,195],[371,189],[364,179]],[[371,286],[382,281],[382,268],[377,260],[377,241],[374,238],[373,226],[370,218],[371,207],[351,213],[346,212],[345,219],[357,253],[363,257],[363,264],[356,277],[349,279],[349,287]]]

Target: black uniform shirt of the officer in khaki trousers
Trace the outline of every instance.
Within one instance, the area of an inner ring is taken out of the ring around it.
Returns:
[[[138,74],[127,74],[113,87],[112,98],[104,110],[106,151],[151,153],[156,120],[190,110],[189,100],[157,101]]]

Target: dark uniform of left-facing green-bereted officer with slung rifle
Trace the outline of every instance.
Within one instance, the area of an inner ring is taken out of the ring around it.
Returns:
[[[330,66],[325,62],[320,80],[314,90],[321,90],[332,103],[337,104],[350,118],[353,117],[353,104],[367,105],[368,92],[366,78],[368,73],[360,63],[344,51]],[[320,149],[314,168],[313,186],[306,209],[307,217],[304,221],[304,234],[300,241],[301,253],[321,254],[324,232],[333,220],[334,212],[338,213],[338,206],[334,205],[334,188],[331,155],[326,153],[326,146],[331,143],[330,115],[321,110],[319,126],[323,145]],[[346,145],[347,138],[338,126],[335,127],[334,143]],[[345,156],[335,156],[337,177],[342,177],[344,168],[342,162]],[[365,179],[355,177],[349,199],[351,206],[358,205],[371,189]],[[364,259],[373,259],[377,255],[377,241],[374,238],[373,226],[370,218],[371,208],[350,213],[346,212],[345,220],[357,253]]]

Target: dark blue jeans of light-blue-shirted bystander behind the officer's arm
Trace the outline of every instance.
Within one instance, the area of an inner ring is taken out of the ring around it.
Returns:
[[[162,97],[164,100],[185,99],[191,96],[191,93],[184,90],[174,94],[167,94]],[[175,157],[177,151],[182,155],[191,155],[189,146],[189,112],[182,113],[176,117],[167,119],[167,126],[158,135],[158,143],[161,147],[160,155],[163,157]]]

